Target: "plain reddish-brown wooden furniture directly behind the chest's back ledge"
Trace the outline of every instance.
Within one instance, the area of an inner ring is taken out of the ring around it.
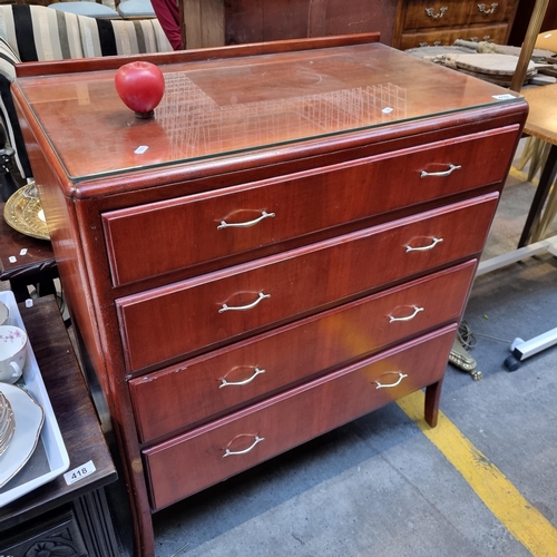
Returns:
[[[397,0],[184,0],[186,48],[379,31],[390,45]]]

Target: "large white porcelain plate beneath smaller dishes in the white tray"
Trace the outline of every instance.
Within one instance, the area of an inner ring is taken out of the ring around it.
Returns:
[[[45,421],[45,412],[35,399],[20,387],[0,383],[0,391],[10,401],[16,419],[13,438],[0,456],[0,487],[10,481],[31,458]]]

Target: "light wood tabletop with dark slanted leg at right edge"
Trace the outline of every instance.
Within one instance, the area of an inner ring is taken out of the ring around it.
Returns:
[[[557,175],[557,84],[525,89],[522,92],[530,106],[524,133],[551,144],[551,148],[541,170],[518,247],[528,244]]]

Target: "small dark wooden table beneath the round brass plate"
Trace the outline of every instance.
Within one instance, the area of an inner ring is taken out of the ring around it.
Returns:
[[[31,284],[40,295],[53,294],[52,281],[58,276],[58,267],[50,242],[26,236],[9,226],[1,216],[4,205],[0,203],[0,281],[10,281],[18,302],[29,297],[27,287]],[[10,261],[11,257],[16,261]]]

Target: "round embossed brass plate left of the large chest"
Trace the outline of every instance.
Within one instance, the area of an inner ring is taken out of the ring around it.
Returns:
[[[39,240],[50,240],[35,182],[20,187],[10,196],[6,202],[3,217],[21,234]]]

